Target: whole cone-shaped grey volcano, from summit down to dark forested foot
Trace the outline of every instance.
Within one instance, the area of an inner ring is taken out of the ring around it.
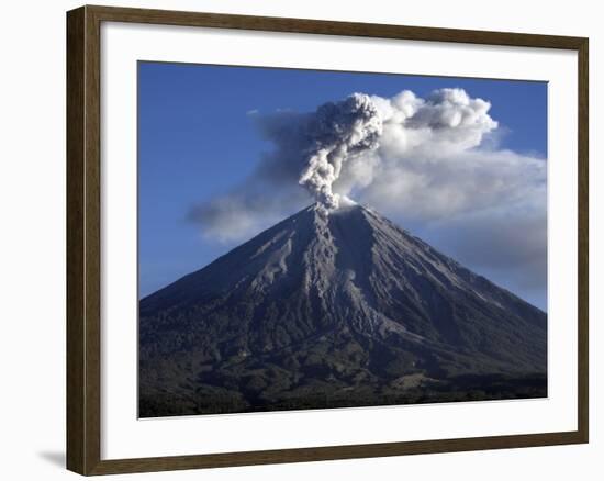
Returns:
[[[139,416],[547,395],[547,314],[316,204],[139,302]]]

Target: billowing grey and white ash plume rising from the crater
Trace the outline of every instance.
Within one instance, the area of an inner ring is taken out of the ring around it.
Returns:
[[[354,93],[312,113],[280,112],[260,122],[277,146],[270,170],[293,164],[298,183],[328,213],[353,190],[368,192],[406,177],[399,171],[384,178],[387,170],[410,160],[451,159],[479,146],[497,127],[490,108],[462,89],[435,90],[426,99],[403,90],[392,98]]]

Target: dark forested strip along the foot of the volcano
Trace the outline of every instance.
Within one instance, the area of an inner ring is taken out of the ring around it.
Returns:
[[[409,378],[409,377],[407,377]],[[467,401],[547,398],[547,376],[459,376],[447,380],[421,377],[401,381],[401,388],[303,385],[279,396],[262,395],[255,389],[234,391],[200,385],[194,394],[143,393],[139,417],[227,414],[268,411],[323,410]],[[407,385],[404,385],[404,383]],[[412,385],[409,385],[412,384]],[[415,385],[413,385],[415,384]]]

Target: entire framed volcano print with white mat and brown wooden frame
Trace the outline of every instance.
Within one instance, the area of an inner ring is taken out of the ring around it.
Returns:
[[[588,443],[588,40],[67,14],[67,465]]]

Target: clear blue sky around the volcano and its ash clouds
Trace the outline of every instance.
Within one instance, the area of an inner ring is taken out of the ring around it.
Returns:
[[[255,115],[283,109],[310,112],[353,92],[391,98],[412,90],[425,98],[435,89],[454,87],[491,102],[489,114],[499,122],[497,150],[545,161],[547,85],[543,82],[139,63],[141,297],[200,269],[241,243],[208,238],[187,216],[193,205],[211,202],[247,182],[262,155],[273,148],[270,139],[259,134]],[[502,215],[505,219],[506,213]],[[521,265],[511,273],[508,266],[502,267],[496,259],[490,262],[484,256],[465,255],[459,248],[462,236],[450,240],[449,231],[424,225],[422,220],[404,227],[546,309],[546,286],[543,281],[525,286]],[[497,256],[496,249],[490,256]]]

